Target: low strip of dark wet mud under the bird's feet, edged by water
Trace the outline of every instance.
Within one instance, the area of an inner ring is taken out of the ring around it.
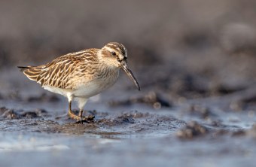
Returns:
[[[54,118],[44,110],[22,111],[8,108],[1,109],[2,132],[46,132],[74,135],[102,135],[104,138],[125,138],[126,135],[146,135],[175,131],[184,126],[184,122],[175,117],[157,114],[141,113],[139,111],[120,112],[118,114],[98,113],[90,111],[95,116],[88,123],[77,123],[67,115]],[[78,111],[75,111],[78,114]],[[88,112],[87,112],[88,113]],[[17,125],[12,126],[11,125]],[[154,135],[152,135],[154,136]]]

